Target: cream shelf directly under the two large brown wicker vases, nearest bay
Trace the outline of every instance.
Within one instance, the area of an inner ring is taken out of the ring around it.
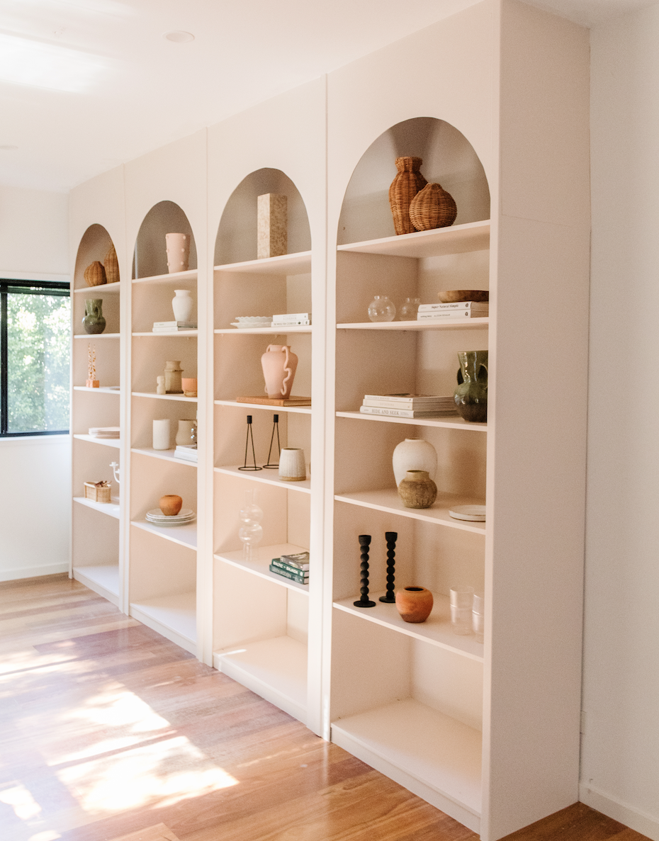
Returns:
[[[484,251],[490,247],[490,220],[468,222],[449,228],[420,230],[413,234],[385,236],[380,240],[351,242],[337,251],[358,251],[362,254],[384,254],[392,257],[437,257]]]

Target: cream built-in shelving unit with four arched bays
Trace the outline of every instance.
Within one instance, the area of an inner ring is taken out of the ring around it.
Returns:
[[[587,67],[584,30],[484,0],[72,193],[72,574],[484,841],[577,799]],[[454,196],[452,227],[394,235],[402,155]],[[262,193],[288,197],[282,257],[256,258]],[[192,235],[187,272],[167,273],[170,231]],[[120,283],[92,294],[82,272],[110,241]],[[198,330],[154,335],[178,288],[197,300]],[[367,320],[375,294],[431,303],[454,288],[489,288],[489,316]],[[104,299],[101,336],[83,334],[88,297]],[[232,325],[306,311],[310,326],[285,331]],[[83,340],[100,389],[84,386]],[[263,394],[269,344],[299,357],[293,391],[310,406],[242,402]],[[452,393],[464,350],[489,351],[486,423],[359,413],[366,393]],[[170,359],[198,378],[197,398],[156,394]],[[195,414],[199,463],[153,450],[154,419],[174,435]],[[304,482],[238,469],[247,415],[263,466],[275,414],[282,446],[305,451]],[[91,426],[120,426],[120,439],[94,440]],[[406,437],[438,452],[429,509],[396,493],[391,455]],[[111,461],[113,502],[82,499]],[[252,558],[238,537],[247,490],[263,509]],[[147,522],[164,494],[196,521]],[[485,522],[449,515],[469,503],[485,503]],[[397,586],[433,590],[423,624],[377,600],[385,532],[398,535]],[[353,604],[360,534],[372,537],[369,609]],[[309,584],[269,571],[306,549]],[[453,584],[485,592],[484,643],[452,632]]]

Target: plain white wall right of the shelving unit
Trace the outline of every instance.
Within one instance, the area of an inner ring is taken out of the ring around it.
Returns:
[[[659,5],[592,32],[581,799],[659,839]],[[581,365],[582,360],[575,360]],[[566,383],[569,388],[569,383]]]

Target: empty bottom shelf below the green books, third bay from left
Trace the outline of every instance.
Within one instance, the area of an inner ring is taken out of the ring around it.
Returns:
[[[218,671],[289,715],[306,718],[306,645],[291,637],[232,646],[213,653]]]

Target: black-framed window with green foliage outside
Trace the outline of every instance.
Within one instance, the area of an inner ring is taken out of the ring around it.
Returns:
[[[0,436],[69,431],[68,283],[0,280]]]

